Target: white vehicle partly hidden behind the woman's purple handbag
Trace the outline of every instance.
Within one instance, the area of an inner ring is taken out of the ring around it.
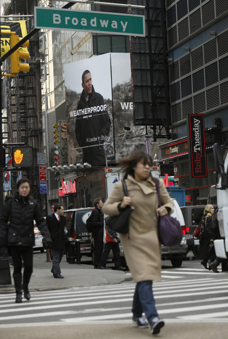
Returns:
[[[183,238],[179,246],[169,247],[162,245],[162,260],[169,259],[173,267],[180,267],[183,262],[183,257],[187,255],[187,242],[186,242],[186,230],[183,214],[181,212],[180,206],[176,199],[172,199],[174,204],[174,212],[171,214],[171,217],[177,219],[180,223]]]

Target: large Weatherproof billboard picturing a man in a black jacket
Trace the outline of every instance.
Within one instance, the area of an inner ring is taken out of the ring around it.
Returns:
[[[130,53],[67,64],[64,76],[70,164],[110,165],[145,150],[145,127],[134,126]]]

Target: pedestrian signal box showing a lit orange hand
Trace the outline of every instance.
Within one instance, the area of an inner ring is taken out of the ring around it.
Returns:
[[[12,147],[13,167],[33,166],[33,148],[31,146]]]

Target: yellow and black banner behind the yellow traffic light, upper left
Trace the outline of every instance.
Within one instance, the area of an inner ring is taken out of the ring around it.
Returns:
[[[20,38],[23,38],[27,35],[26,21],[1,21],[1,30],[10,30],[11,32],[16,32]],[[2,34],[1,35],[1,56],[6,54],[10,50],[10,35]],[[20,50],[27,52],[27,47],[20,47]]]

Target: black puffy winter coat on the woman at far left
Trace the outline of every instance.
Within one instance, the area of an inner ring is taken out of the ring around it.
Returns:
[[[8,226],[9,219],[10,225]],[[50,233],[38,202],[30,196],[21,197],[18,194],[9,198],[0,215],[0,246],[34,246],[33,220],[41,231],[44,241],[51,242]]]

